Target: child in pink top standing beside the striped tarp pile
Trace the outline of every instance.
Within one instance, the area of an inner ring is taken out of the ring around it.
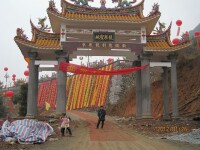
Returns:
[[[72,136],[72,131],[71,131],[70,127],[69,127],[70,118],[67,117],[67,115],[65,113],[63,113],[62,116],[60,117],[60,119],[62,121],[61,129],[60,129],[61,135],[64,136],[65,130],[66,130],[66,132],[68,130],[69,135]]]

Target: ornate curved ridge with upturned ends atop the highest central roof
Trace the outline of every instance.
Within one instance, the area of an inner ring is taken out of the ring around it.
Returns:
[[[64,3],[64,4],[63,4]],[[51,2],[49,3],[49,7],[47,8],[47,11],[53,12],[57,14],[58,16],[62,16],[66,18],[67,13],[71,14],[83,14],[83,15],[96,15],[96,16],[138,16],[137,19],[143,19],[143,18],[151,18],[155,15],[160,15],[159,12],[159,6],[155,9],[153,8],[152,11],[148,16],[143,15],[143,7],[144,7],[144,0],[142,0],[140,3],[134,6],[125,7],[125,8],[95,8],[95,7],[86,7],[86,6],[80,6],[80,5],[74,5],[66,0],[61,1],[62,5],[62,12],[59,12],[55,8],[55,3]],[[65,8],[64,8],[65,7]],[[87,18],[85,18],[87,19]]]

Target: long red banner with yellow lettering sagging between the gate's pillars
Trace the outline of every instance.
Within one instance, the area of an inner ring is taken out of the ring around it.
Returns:
[[[133,71],[141,70],[146,68],[148,65],[134,67],[134,68],[127,68],[127,69],[120,69],[120,70],[98,70],[94,68],[88,68],[84,66],[79,66],[75,64],[70,64],[66,62],[61,62],[59,66],[59,70],[63,72],[71,72],[75,74],[88,74],[88,75],[118,75],[118,74],[127,74]]]

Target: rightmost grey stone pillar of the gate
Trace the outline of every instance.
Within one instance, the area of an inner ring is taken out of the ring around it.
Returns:
[[[178,111],[178,96],[177,96],[177,73],[176,73],[176,59],[177,55],[170,55],[168,57],[171,61],[171,88],[172,88],[172,118],[179,118]]]

